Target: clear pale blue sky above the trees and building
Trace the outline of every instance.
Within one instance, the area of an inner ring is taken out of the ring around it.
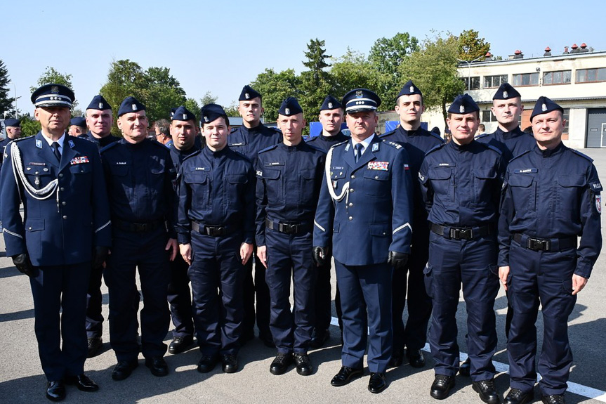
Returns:
[[[187,97],[206,91],[218,103],[237,100],[265,67],[304,70],[305,44],[326,41],[327,53],[368,54],[380,37],[409,32],[477,30],[495,56],[516,49],[542,56],[585,42],[606,51],[603,0],[553,1],[28,1],[1,8],[0,59],[17,107],[33,111],[29,87],[46,66],[72,74],[85,108],[107,79],[112,60],[143,69],[169,67]]]

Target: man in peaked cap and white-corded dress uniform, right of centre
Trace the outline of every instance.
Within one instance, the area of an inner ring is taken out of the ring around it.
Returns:
[[[369,339],[368,389],[380,393],[387,386],[392,352],[392,267],[402,271],[410,253],[412,184],[404,148],[374,134],[381,104],[376,93],[355,89],[345,94],[342,104],[351,140],[335,145],[327,155],[313,256],[324,263],[332,238],[343,309],[343,353],[341,370],[331,384],[344,386],[363,374]]]

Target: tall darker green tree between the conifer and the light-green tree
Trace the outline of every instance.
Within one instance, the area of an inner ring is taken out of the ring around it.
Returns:
[[[411,37],[408,32],[398,32],[392,38],[383,37],[374,42],[368,59],[379,73],[376,92],[383,100],[395,99],[402,84],[409,80],[400,77],[398,68],[409,54],[417,50],[419,50],[419,40]]]

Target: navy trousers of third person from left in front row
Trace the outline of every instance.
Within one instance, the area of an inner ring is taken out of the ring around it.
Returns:
[[[192,233],[193,260],[187,273],[194,294],[194,322],[203,355],[237,354],[242,331],[244,266],[242,234],[213,237]]]

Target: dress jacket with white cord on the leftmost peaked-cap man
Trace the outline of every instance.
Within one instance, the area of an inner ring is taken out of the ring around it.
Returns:
[[[20,164],[15,161],[15,167],[23,173],[22,178],[18,174],[19,183],[13,174],[11,148],[6,148],[0,178],[6,255],[27,252],[34,266],[91,261],[95,245],[111,245],[99,152],[88,141],[64,136],[60,162],[41,132],[14,141],[20,150]],[[48,192],[32,196],[55,180],[56,188],[51,185]],[[31,193],[24,190],[24,181]],[[25,219],[19,212],[21,201]]]

